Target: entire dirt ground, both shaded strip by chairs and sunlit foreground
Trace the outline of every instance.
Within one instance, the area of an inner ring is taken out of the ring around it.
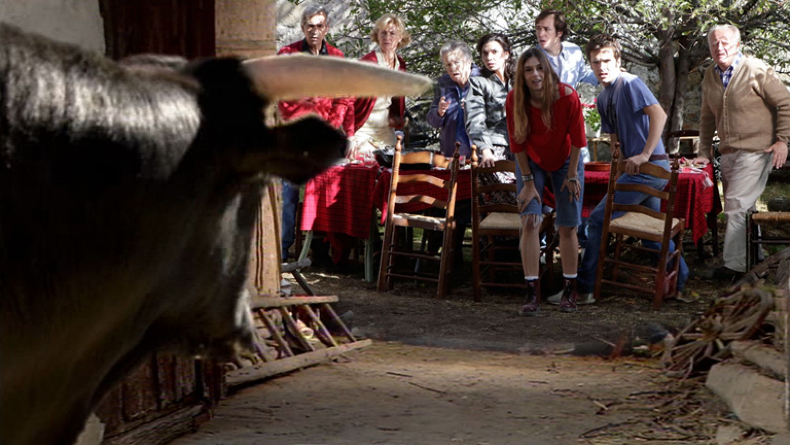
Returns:
[[[649,335],[682,328],[728,287],[705,278],[720,265],[706,251],[704,261],[687,251],[687,292],[660,311],[604,288],[577,313],[544,304],[532,318],[517,314],[520,293],[487,289],[472,301],[468,264],[446,300],[408,281],[376,292],[359,262],[311,267],[314,291],[340,296],[337,313],[374,345],[240,390],[174,443],[707,444],[720,426],[742,428],[740,443],[769,443],[702,380],[668,379],[644,352]]]

